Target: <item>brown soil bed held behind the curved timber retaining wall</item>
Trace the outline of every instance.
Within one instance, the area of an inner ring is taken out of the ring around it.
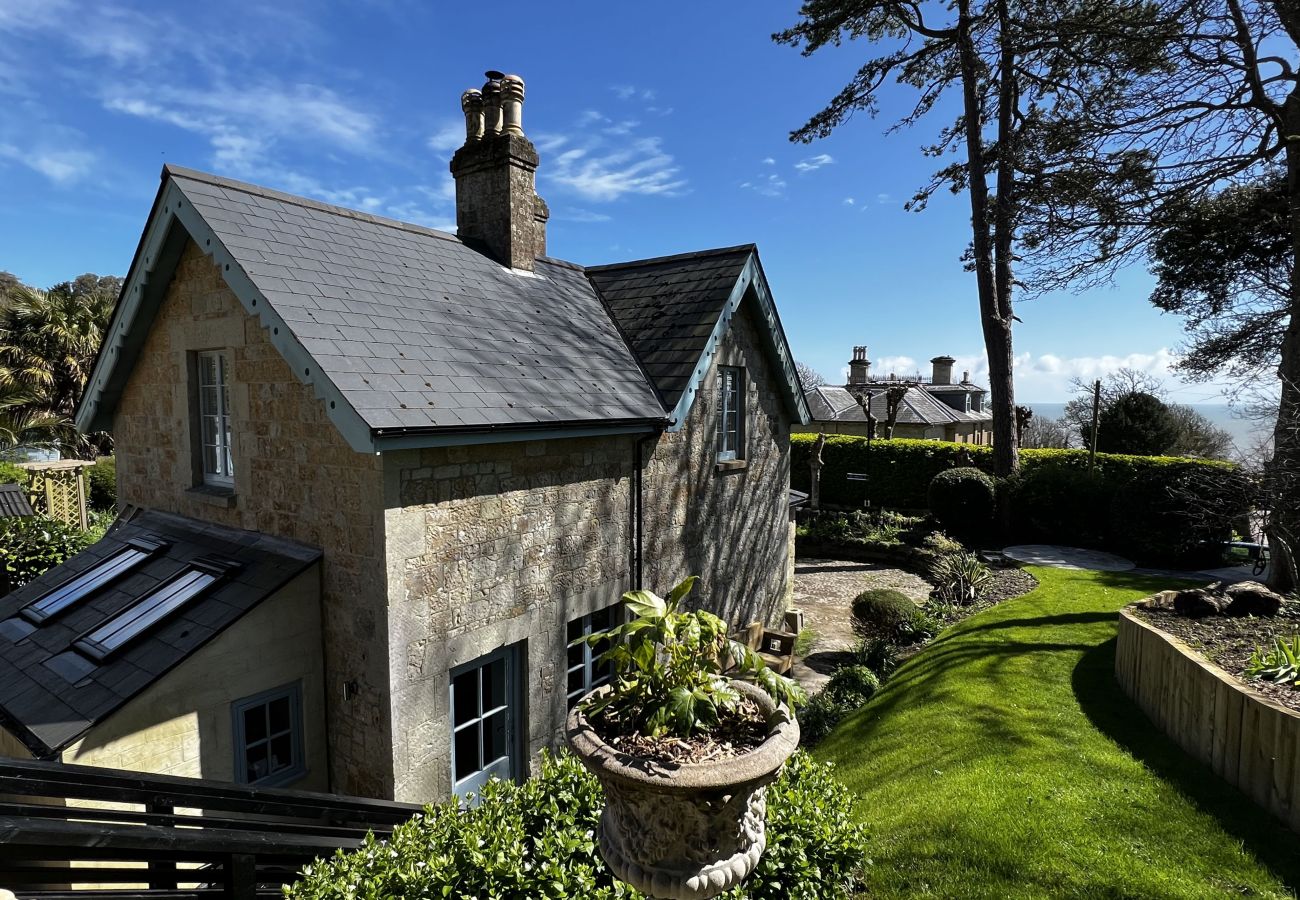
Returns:
[[[1231,618],[1208,615],[1204,619],[1190,619],[1162,610],[1135,609],[1143,622],[1173,635],[1192,648],[1219,668],[1235,675],[1243,684],[1262,693],[1269,700],[1288,709],[1300,711],[1300,688],[1264,679],[1248,679],[1242,675],[1256,648],[1268,650],[1274,637],[1290,640],[1300,632],[1300,611],[1290,605],[1283,606],[1275,616]]]

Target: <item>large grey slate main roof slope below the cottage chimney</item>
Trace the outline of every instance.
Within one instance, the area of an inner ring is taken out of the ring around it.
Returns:
[[[370,428],[663,419],[577,267],[168,166]]]

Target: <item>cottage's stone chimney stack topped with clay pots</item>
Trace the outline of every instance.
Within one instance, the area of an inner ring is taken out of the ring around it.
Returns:
[[[456,233],[481,241],[502,264],[532,272],[546,254],[550,211],[537,196],[537,148],[524,137],[524,79],[486,74],[482,90],[460,95],[465,144],[451,157]]]

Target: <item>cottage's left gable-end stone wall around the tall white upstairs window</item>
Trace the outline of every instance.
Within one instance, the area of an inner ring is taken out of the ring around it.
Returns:
[[[194,489],[188,358],[225,349],[234,492]],[[325,551],[321,574],[333,789],[391,792],[382,463],[354,451],[191,243],[113,423],[118,501],[292,538]],[[354,683],[343,701],[344,683]]]

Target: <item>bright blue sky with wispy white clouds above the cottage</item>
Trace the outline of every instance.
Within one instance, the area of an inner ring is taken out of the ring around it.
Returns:
[[[552,255],[597,264],[755,242],[796,356],[827,375],[855,343],[900,373],[950,354],[983,371],[965,196],[923,213],[919,148],[885,135],[788,134],[867,48],[803,59],[770,39],[797,4],[348,4],[0,0],[0,269],[49,285],[125,273],[164,163],[434,228],[454,221],[459,96],[485,69],[524,77]],[[1022,402],[1071,376],[1164,376],[1180,323],[1149,277],[1020,304]],[[1183,402],[1216,385],[1170,380]]]

